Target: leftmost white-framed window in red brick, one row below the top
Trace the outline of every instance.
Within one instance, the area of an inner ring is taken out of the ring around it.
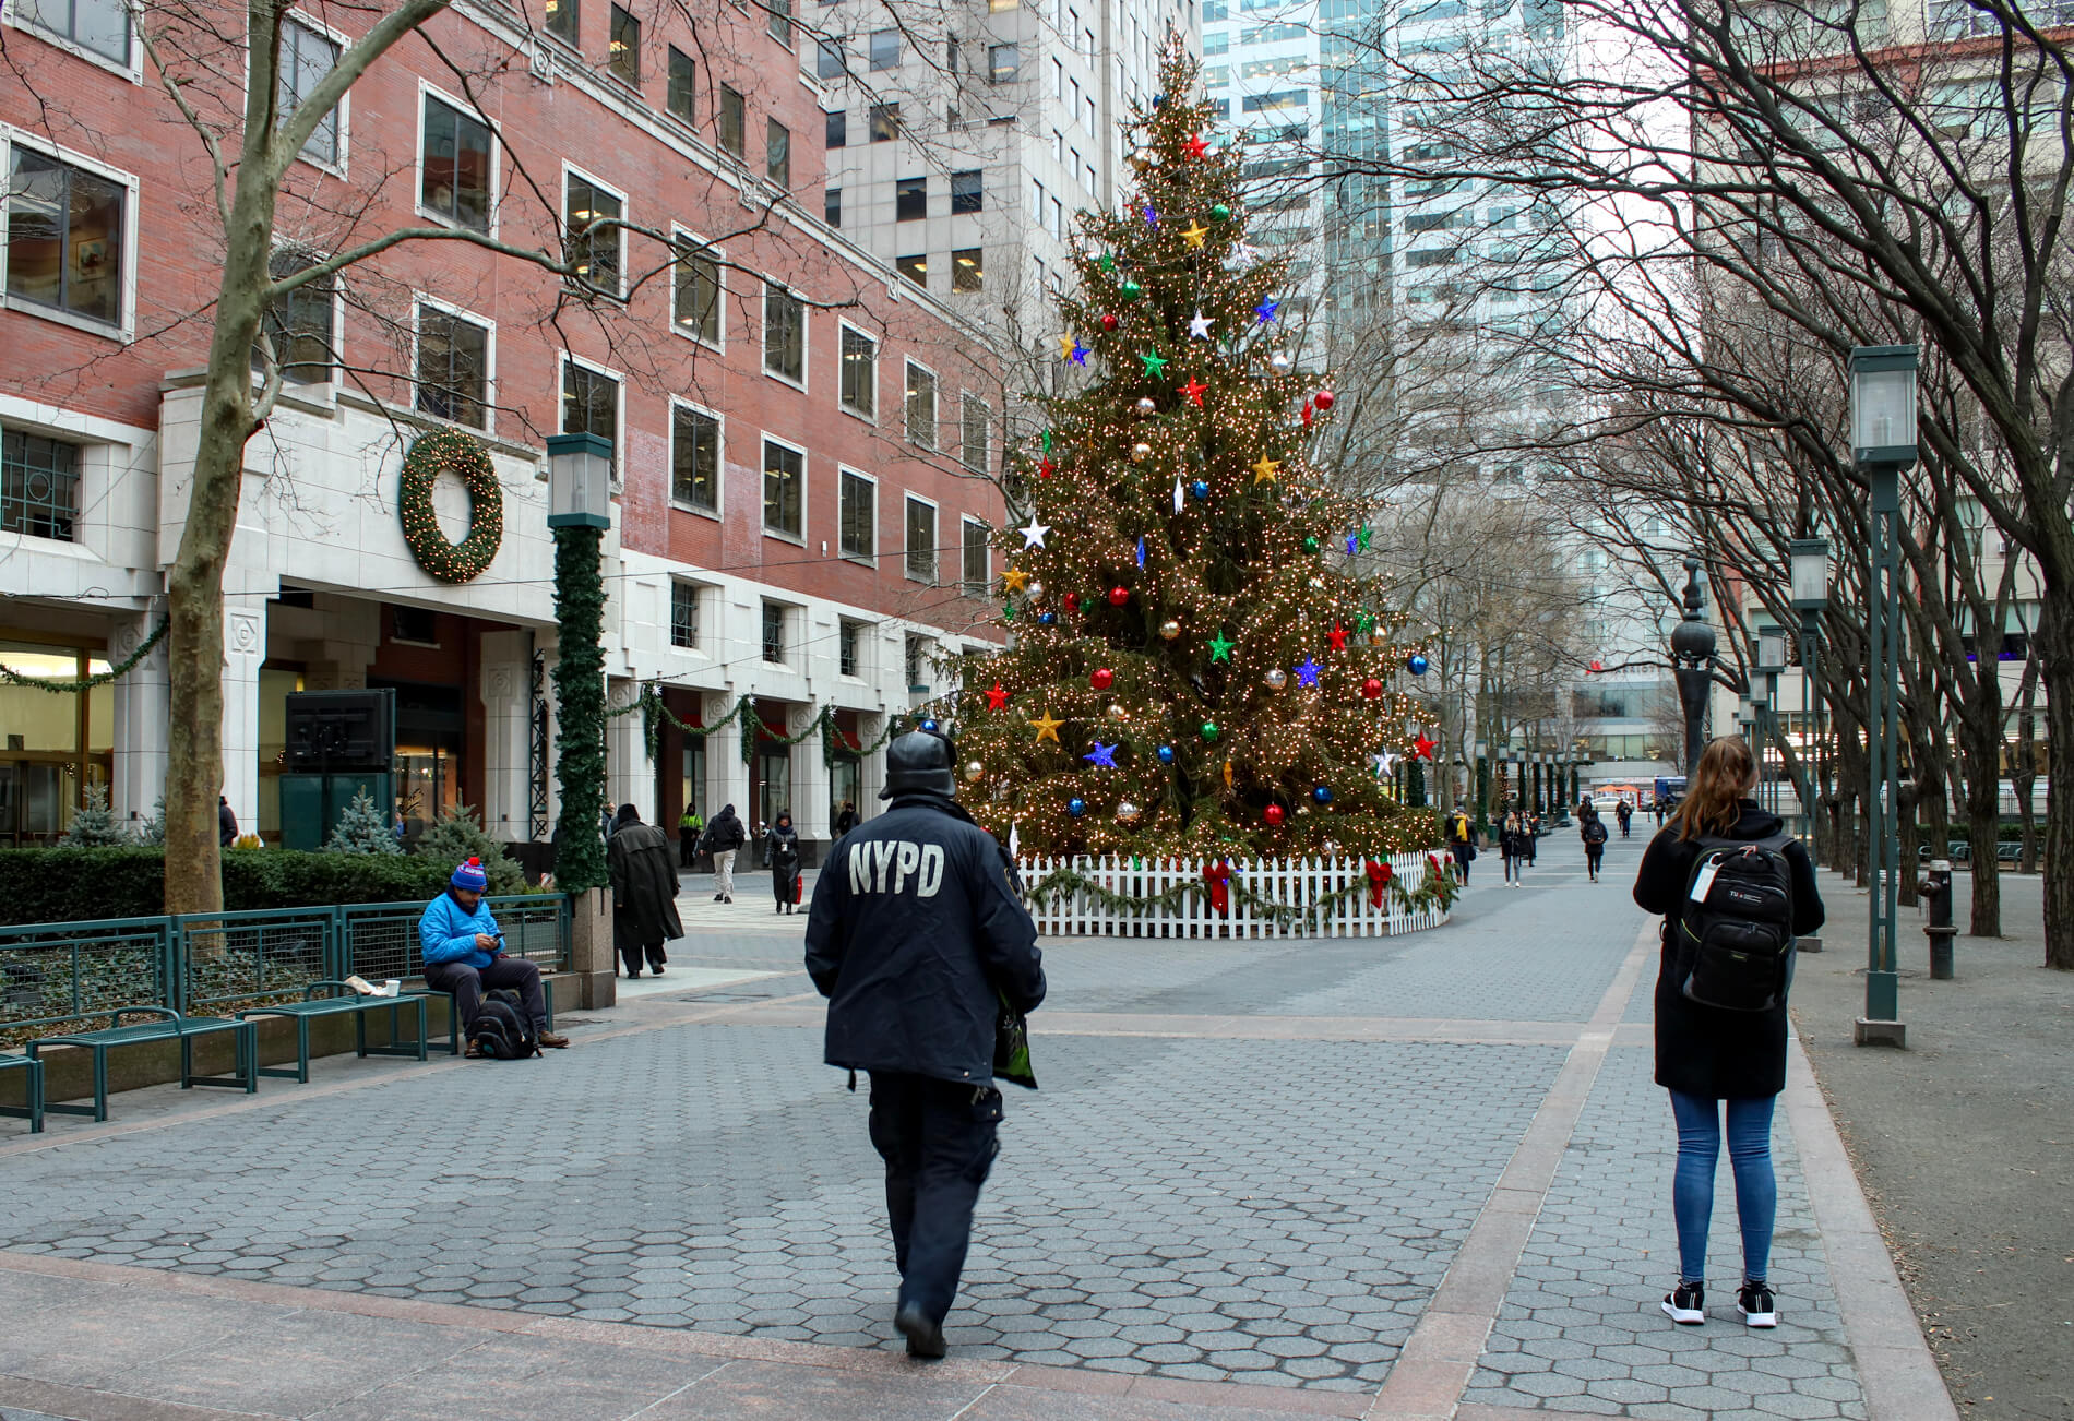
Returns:
[[[120,326],[127,197],[120,183],[17,147],[6,195],[8,295]]]

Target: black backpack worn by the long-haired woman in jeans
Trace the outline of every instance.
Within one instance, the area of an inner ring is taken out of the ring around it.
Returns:
[[[1680,904],[1678,990],[1730,1012],[1786,1002],[1794,952],[1794,875],[1786,834],[1701,838]]]

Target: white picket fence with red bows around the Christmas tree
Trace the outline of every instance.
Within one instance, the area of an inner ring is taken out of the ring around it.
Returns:
[[[1392,855],[1394,882],[1417,890],[1427,882],[1427,859],[1429,853]],[[1446,861],[1441,855],[1441,863]],[[1238,892],[1230,894],[1230,913],[1220,915],[1211,907],[1209,884],[1203,882],[1203,863],[1195,859],[1118,855],[1020,859],[1022,886],[1029,890],[1062,869],[1072,869],[1101,888],[1130,898],[1153,898],[1174,884],[1186,886],[1172,909],[1166,904],[1105,907],[1087,890],[1062,892],[1041,904],[1033,902],[1031,915],[1037,919],[1037,931],[1062,938],[1394,938],[1448,921],[1448,913],[1439,907],[1406,911],[1390,886],[1383,888],[1383,907],[1371,907],[1365,859],[1232,859],[1230,865],[1232,890],[1244,884],[1267,902],[1305,909],[1302,917],[1296,921],[1269,917],[1244,902]],[[1321,913],[1309,911],[1348,884],[1358,884],[1358,890]]]

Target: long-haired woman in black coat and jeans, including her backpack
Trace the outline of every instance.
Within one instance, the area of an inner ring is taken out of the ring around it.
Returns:
[[[1779,1203],[1771,1108],[1786,1089],[1792,940],[1821,927],[1823,904],[1806,848],[1757,807],[1755,788],[1750,747],[1738,736],[1713,741],[1634,877],[1634,902],[1663,915],[1657,1085],[1670,1091],[1678,1124],[1678,1286],[1663,1311],[1684,1326],[1707,1321],[1707,1226],[1723,1116],[1742,1222],[1736,1311],[1750,1328],[1777,1326],[1765,1280]]]

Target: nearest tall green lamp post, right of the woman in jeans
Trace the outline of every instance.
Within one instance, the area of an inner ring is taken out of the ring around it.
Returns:
[[[1850,456],[1865,473],[1873,510],[1873,560],[1865,583],[1871,714],[1867,751],[1873,799],[1873,913],[1867,931],[1865,1016],[1858,1046],[1906,1046],[1896,954],[1902,842],[1902,469],[1916,463],[1916,346],[1856,346],[1850,353]]]

